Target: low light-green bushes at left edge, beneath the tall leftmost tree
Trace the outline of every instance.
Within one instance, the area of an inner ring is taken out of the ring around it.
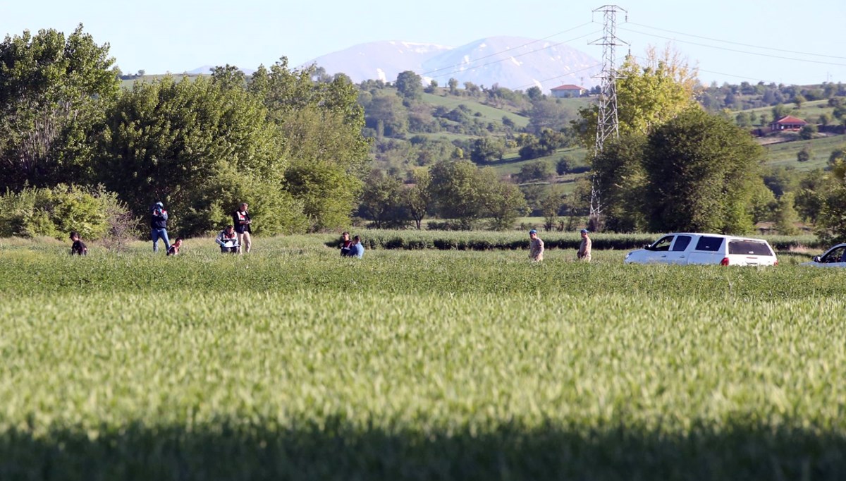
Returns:
[[[25,187],[0,196],[0,236],[48,236],[67,239],[75,230],[85,240],[107,234],[110,215],[126,213],[113,192],[59,184],[52,188]]]

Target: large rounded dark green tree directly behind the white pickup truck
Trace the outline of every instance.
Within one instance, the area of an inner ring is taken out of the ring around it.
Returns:
[[[763,148],[733,122],[689,108],[649,135],[646,219],[653,232],[743,233]]]

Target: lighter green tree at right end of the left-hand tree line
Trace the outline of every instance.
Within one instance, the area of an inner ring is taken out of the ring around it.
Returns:
[[[282,135],[290,159],[285,189],[303,203],[309,229],[321,230],[349,224],[369,171],[370,143],[361,134],[364,110],[349,78],[315,76],[314,66],[288,69],[282,58],[255,72],[250,91]]]

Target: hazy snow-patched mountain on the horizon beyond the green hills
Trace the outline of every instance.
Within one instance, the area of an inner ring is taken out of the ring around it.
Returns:
[[[592,76],[602,70],[598,60],[573,47],[517,36],[492,36],[462,47],[375,41],[329,53],[305,65],[310,64],[323,67],[330,75],[349,75],[354,82],[393,82],[400,72],[412,70],[426,83],[434,79],[440,86],[454,78],[459,86],[473,82],[523,91],[538,86],[544,93],[563,84],[590,88],[598,84]]]

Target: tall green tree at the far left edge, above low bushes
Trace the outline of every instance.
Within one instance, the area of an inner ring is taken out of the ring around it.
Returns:
[[[91,134],[119,90],[108,44],[82,25],[0,44],[0,191],[90,180]]]

